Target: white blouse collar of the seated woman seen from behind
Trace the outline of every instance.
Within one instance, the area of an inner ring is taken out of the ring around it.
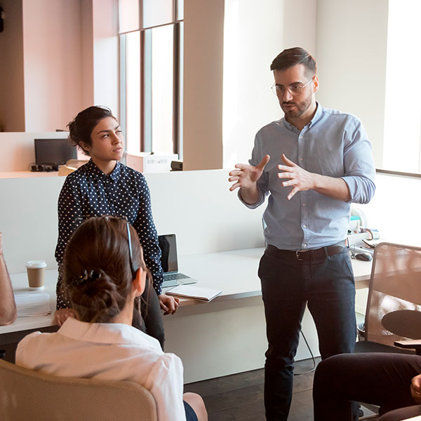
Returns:
[[[133,344],[160,350],[158,340],[124,323],[87,323],[69,317],[58,330],[58,334],[101,344]]]

